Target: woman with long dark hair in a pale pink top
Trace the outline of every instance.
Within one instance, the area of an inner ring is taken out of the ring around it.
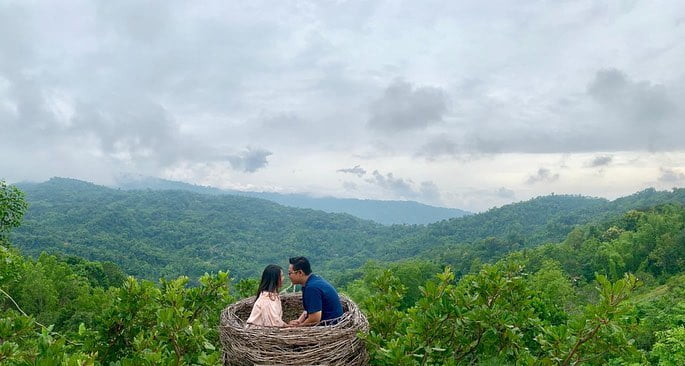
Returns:
[[[283,285],[283,269],[275,264],[269,264],[262,272],[262,281],[257,290],[247,326],[259,325],[263,327],[285,327],[283,309],[278,290]]]

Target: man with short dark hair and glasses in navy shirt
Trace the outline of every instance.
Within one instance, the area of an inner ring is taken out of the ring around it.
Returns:
[[[289,260],[288,276],[294,285],[302,285],[302,307],[304,312],[288,324],[306,327],[322,324],[335,324],[342,316],[342,304],[338,292],[321,276],[312,273],[309,260],[293,257]]]

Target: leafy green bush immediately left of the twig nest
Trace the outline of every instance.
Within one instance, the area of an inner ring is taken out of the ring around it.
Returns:
[[[231,302],[228,275],[205,275],[201,286],[188,278],[162,280],[160,287],[129,277],[112,294],[114,301],[98,318],[87,348],[103,362],[122,365],[220,363],[216,324]]]

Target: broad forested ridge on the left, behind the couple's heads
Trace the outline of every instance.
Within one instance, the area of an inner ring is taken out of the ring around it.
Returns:
[[[225,268],[254,276],[265,263],[301,254],[321,270],[355,266],[414,230],[231,195],[123,191],[63,178],[21,188],[30,207],[13,242],[24,253],[108,260],[151,279]]]

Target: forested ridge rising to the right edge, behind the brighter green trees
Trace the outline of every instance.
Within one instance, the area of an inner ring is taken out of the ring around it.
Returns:
[[[685,204],[685,189],[645,189],[610,201],[577,195],[549,195],[512,203],[487,212],[428,225],[385,248],[385,259],[434,258],[457,273],[472,262],[491,261],[506,253],[563,241],[578,225],[620,217],[659,204]],[[426,245],[430,243],[430,245]]]

